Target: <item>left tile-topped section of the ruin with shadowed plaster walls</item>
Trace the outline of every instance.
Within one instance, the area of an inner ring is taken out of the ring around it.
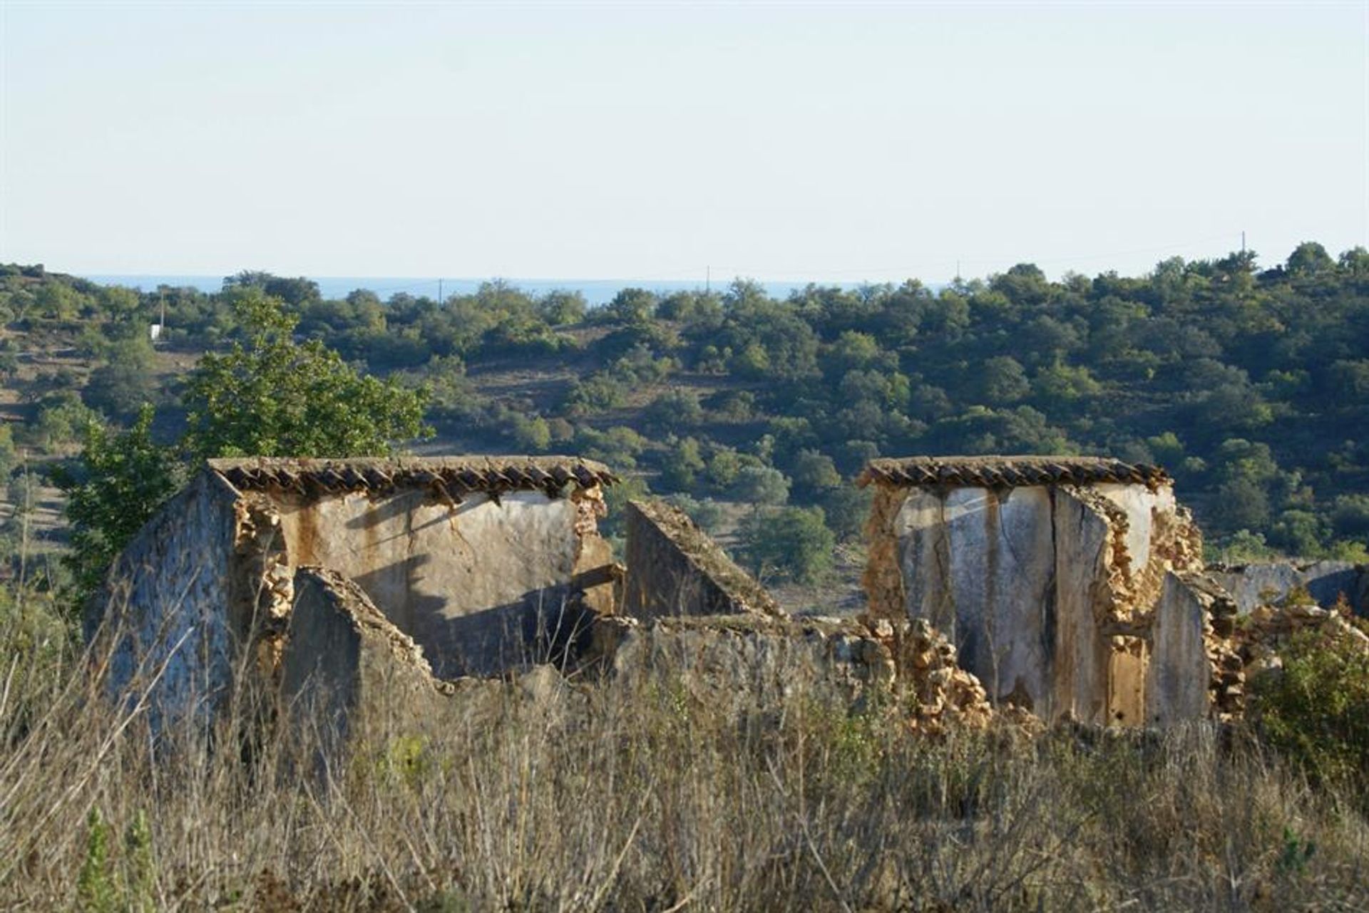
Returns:
[[[245,650],[272,667],[308,650],[292,609],[340,579],[441,678],[545,658],[580,612],[611,610],[613,482],[568,457],[209,460],[111,569],[92,619],[119,632],[111,684],[164,663],[163,709],[212,704]],[[301,569],[323,575],[301,587]]]

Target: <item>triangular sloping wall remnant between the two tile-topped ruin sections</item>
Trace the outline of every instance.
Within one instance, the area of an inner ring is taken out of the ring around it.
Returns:
[[[630,501],[623,613],[779,617],[784,610],[683,511],[664,501]]]

